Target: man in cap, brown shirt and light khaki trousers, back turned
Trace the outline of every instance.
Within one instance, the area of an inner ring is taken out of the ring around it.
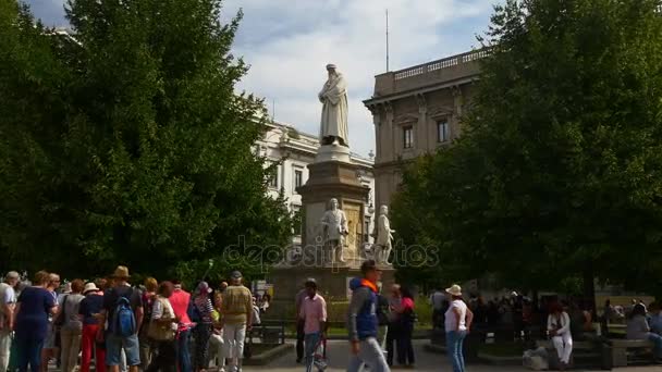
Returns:
[[[253,324],[253,295],[242,285],[242,273],[234,271],[230,275],[230,286],[223,292],[222,297],[224,357],[230,359],[229,372],[241,372],[246,331],[250,331]]]

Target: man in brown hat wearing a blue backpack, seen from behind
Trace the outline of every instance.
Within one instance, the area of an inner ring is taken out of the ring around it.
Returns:
[[[106,365],[109,372],[119,372],[122,350],[126,355],[128,371],[137,372],[140,364],[138,330],[143,323],[143,298],[138,289],[128,284],[128,269],[118,266],[112,275],[114,286],[103,295],[100,324],[106,331]]]

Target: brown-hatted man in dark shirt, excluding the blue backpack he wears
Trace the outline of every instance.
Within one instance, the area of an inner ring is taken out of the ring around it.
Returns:
[[[140,364],[140,350],[138,344],[138,330],[143,323],[143,298],[138,289],[134,289],[128,284],[128,269],[126,266],[118,266],[113,274],[114,287],[107,290],[103,295],[103,310],[101,310],[103,324],[108,320],[108,324],[113,324],[114,311],[118,306],[118,300],[121,297],[128,299],[131,308],[134,311],[136,321],[135,333],[127,337],[114,335],[109,331],[106,333],[106,365],[109,372],[120,372],[120,362],[122,360],[122,349],[126,355],[126,364],[130,365],[130,372],[138,372]]]

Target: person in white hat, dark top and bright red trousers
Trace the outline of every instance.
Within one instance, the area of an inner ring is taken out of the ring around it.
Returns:
[[[96,344],[99,332],[97,317],[103,309],[103,293],[93,282],[85,284],[85,298],[81,301],[78,314],[83,318],[83,337],[81,338],[81,372],[89,372],[91,354],[95,352],[95,370],[106,372],[106,349]]]

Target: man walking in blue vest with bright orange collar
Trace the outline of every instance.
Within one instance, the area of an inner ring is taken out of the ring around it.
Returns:
[[[377,282],[381,270],[375,260],[367,260],[360,265],[363,278],[355,278],[350,284],[353,290],[347,314],[347,330],[352,345],[352,359],[347,372],[358,372],[365,363],[370,371],[390,371],[384,355],[377,342]]]

